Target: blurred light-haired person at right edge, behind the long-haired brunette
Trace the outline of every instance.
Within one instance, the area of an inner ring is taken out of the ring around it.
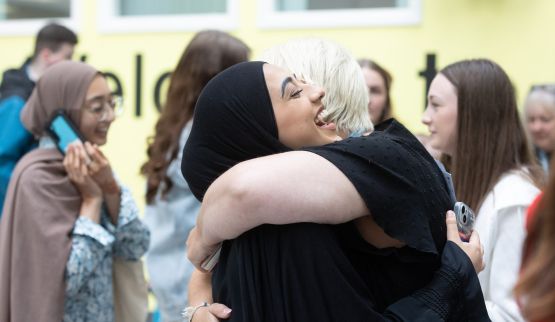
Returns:
[[[526,97],[524,115],[538,162],[549,173],[555,150],[555,84],[533,86]]]

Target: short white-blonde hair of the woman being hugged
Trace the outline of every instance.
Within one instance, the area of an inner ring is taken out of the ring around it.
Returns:
[[[320,38],[288,41],[266,50],[259,60],[278,65],[324,88],[325,121],[346,133],[372,131],[368,88],[360,66],[339,44]]]

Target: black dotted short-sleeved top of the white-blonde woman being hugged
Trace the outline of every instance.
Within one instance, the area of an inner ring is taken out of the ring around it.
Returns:
[[[449,189],[434,159],[390,119],[367,137],[306,149],[333,163],[353,183],[384,231],[413,249],[438,255],[445,244]]]

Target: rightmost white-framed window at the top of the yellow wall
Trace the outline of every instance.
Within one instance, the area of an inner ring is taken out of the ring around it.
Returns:
[[[421,0],[259,0],[261,28],[335,28],[411,25]]]

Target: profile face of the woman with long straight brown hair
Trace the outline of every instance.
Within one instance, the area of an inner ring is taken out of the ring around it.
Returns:
[[[430,131],[432,148],[453,156],[457,147],[457,90],[442,74],[437,74],[428,92],[428,106],[422,123]]]

